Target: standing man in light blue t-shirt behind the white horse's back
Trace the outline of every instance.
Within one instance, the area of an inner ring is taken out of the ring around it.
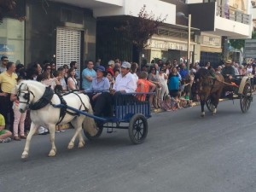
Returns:
[[[87,62],[87,68],[85,68],[82,72],[82,88],[83,90],[90,89],[90,84],[92,82],[92,79],[96,78],[96,71],[93,69],[93,62],[88,61]]]

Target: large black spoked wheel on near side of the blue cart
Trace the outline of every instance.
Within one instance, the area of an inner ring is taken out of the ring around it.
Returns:
[[[148,120],[143,114],[135,114],[132,116],[129,124],[129,137],[131,143],[143,143],[148,135]]]

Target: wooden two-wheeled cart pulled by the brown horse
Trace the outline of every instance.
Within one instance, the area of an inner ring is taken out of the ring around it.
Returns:
[[[232,100],[239,99],[241,112],[246,113],[251,106],[251,102],[253,101],[252,78],[250,76],[236,75],[235,79],[236,84],[229,84],[223,82],[224,90],[229,90],[230,92],[230,94],[228,96],[224,96],[224,98],[229,98]],[[214,105],[212,103],[212,96],[208,97],[206,104],[208,110],[212,112],[214,109]]]

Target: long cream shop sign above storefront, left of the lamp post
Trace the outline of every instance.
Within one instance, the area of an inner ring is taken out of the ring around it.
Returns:
[[[187,51],[188,44],[175,43],[171,41],[160,41],[160,40],[148,40],[149,48],[157,48],[157,49],[175,49],[175,50],[183,50]],[[193,47],[191,46],[190,51],[193,51]]]

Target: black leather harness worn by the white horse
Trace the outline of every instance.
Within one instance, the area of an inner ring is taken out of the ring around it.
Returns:
[[[35,97],[35,95],[33,94],[33,92],[31,90],[29,90],[29,88],[27,87],[26,91],[27,92],[23,92],[20,90],[21,86],[23,83],[20,84],[20,87],[17,91],[17,97],[19,98],[20,93],[24,93],[24,99],[26,100],[26,102],[20,102],[20,103],[26,103],[27,105],[29,105],[29,108],[31,110],[39,110],[41,108],[44,108],[45,106],[47,106],[48,104],[50,104],[51,106],[53,106],[55,108],[55,105],[51,102],[52,97],[54,96],[54,91],[50,89],[50,87],[46,87],[44,90],[44,95],[38,100],[38,102],[35,103],[31,103],[30,102],[30,93],[32,94],[33,97]],[[74,95],[79,97],[79,100],[81,102],[81,105],[79,107],[79,110],[81,110],[82,106],[84,106],[84,109],[86,112],[89,111],[88,108],[85,107],[84,102],[82,101],[81,97],[79,96],[79,94],[71,92]],[[66,93],[63,96],[67,96],[70,93]],[[64,107],[60,108],[60,118],[59,121],[57,122],[56,125],[59,125],[61,123],[61,121],[64,119],[66,113],[73,115],[73,116],[79,116],[79,113],[73,113],[70,111],[67,111],[67,102],[64,100],[63,96],[61,94],[56,93],[56,95],[59,97],[60,101],[61,101],[61,105],[63,105]]]

